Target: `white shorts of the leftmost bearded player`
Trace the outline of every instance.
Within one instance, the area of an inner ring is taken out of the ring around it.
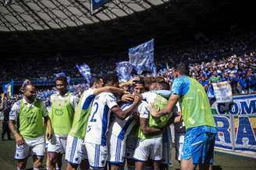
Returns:
[[[25,140],[25,144],[16,144],[15,159],[24,159],[30,155],[44,156],[44,137],[37,137],[30,140]]]

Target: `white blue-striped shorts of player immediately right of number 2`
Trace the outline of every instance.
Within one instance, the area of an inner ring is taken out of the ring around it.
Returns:
[[[110,164],[122,164],[124,162],[126,142],[112,134],[108,137],[108,161]]]

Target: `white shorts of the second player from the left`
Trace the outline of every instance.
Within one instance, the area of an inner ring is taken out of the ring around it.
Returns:
[[[55,152],[59,154],[65,154],[66,150],[66,138],[67,137],[59,137],[55,136],[55,138],[52,138],[48,141],[48,152]]]

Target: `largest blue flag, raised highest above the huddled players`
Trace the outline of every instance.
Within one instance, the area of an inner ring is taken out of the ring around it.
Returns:
[[[151,71],[156,75],[156,66],[154,61],[154,39],[142,43],[137,47],[129,49],[130,64],[133,65],[137,74],[143,71]]]

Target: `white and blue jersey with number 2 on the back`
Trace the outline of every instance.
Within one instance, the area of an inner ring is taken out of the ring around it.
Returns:
[[[106,145],[110,110],[113,106],[117,106],[116,97],[110,92],[102,92],[94,98],[85,142]]]

